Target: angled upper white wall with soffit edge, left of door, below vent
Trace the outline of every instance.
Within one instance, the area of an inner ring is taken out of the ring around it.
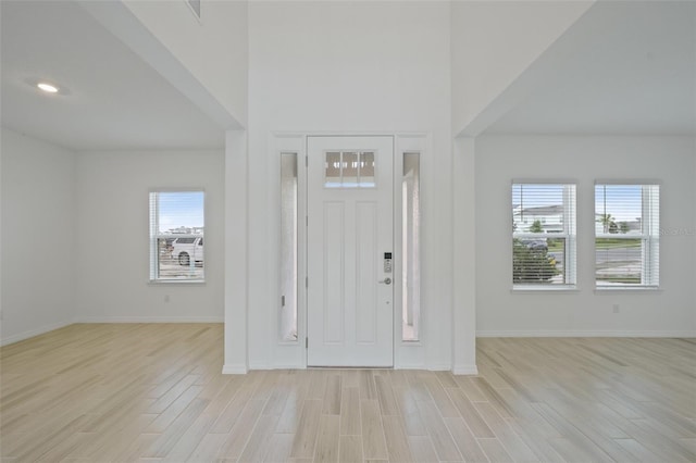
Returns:
[[[80,1],[109,32],[189,98],[220,128],[247,121],[247,2]]]

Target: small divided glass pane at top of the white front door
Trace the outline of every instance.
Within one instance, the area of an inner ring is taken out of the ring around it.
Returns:
[[[326,151],[324,187],[374,188],[374,151]]]

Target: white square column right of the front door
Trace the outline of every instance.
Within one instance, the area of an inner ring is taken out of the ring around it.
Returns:
[[[476,375],[476,191],[474,138],[453,143],[452,373]]]

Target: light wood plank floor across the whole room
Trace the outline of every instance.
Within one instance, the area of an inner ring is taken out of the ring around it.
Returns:
[[[225,376],[222,337],[72,325],[2,348],[2,461],[696,461],[694,339],[478,339],[480,376]]]

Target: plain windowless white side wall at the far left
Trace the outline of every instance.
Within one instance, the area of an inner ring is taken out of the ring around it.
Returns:
[[[75,310],[75,154],[2,128],[2,328],[9,343]]]

